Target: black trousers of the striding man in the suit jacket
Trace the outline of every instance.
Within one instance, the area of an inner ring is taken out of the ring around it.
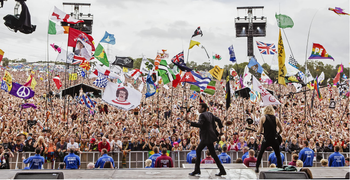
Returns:
[[[213,143],[203,143],[202,141],[199,143],[197,149],[196,149],[196,164],[194,168],[194,172],[200,172],[200,163],[201,163],[201,152],[205,148],[205,146],[208,147],[208,150],[210,152],[211,157],[215,160],[216,165],[220,169],[220,172],[224,173],[226,172],[224,169],[224,166],[222,166],[220,159],[218,158],[218,155],[215,153],[214,144]]]

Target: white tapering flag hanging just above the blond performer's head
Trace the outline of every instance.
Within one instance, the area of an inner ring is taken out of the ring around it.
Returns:
[[[257,91],[261,95],[263,106],[268,105],[279,105],[281,104],[272,94],[267,91],[260,82],[253,76],[253,88],[254,91]]]

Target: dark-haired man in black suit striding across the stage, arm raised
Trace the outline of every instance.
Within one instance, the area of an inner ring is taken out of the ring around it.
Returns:
[[[188,123],[191,123],[191,126],[193,127],[199,127],[200,128],[200,138],[201,141],[196,149],[196,164],[194,171],[192,173],[189,173],[190,176],[195,176],[196,174],[201,174],[200,171],[200,157],[201,152],[205,148],[205,146],[208,147],[208,150],[211,154],[211,156],[214,158],[216,165],[220,169],[220,172],[218,174],[215,174],[216,176],[226,175],[226,171],[224,167],[221,164],[221,161],[219,160],[218,156],[215,153],[214,149],[214,142],[218,140],[219,133],[216,130],[216,124],[215,121],[218,123],[220,128],[220,134],[222,132],[222,123],[221,120],[214,116],[212,113],[208,112],[208,105],[206,103],[200,103],[198,112],[201,113],[199,116],[198,122],[191,122],[187,120],[187,114],[186,114],[186,120]]]

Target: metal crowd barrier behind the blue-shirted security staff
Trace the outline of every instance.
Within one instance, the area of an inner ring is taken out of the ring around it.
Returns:
[[[169,156],[173,159],[174,167],[176,168],[182,168],[182,164],[187,163],[186,157],[187,153],[190,151],[171,151]],[[273,151],[265,151],[263,158],[262,158],[262,167],[267,167],[268,165],[268,157]],[[285,156],[284,165],[287,165],[290,161],[292,161],[292,154],[288,152],[282,152]],[[9,164],[10,169],[23,169],[24,167],[28,166],[23,163],[22,157],[28,158],[29,156],[34,155],[34,152],[22,152],[22,153],[14,153],[14,157],[10,158]],[[219,152],[217,152],[219,154]],[[229,151],[227,152],[228,155],[231,157],[231,163],[235,163],[236,159],[242,158],[243,152],[237,152],[237,151]],[[318,155],[322,157],[322,159],[328,159],[329,155],[332,154],[331,152],[321,152],[321,153],[315,153],[315,155]],[[345,157],[349,157],[350,153],[342,153]],[[81,161],[81,169],[86,169],[87,165],[92,162],[95,163],[97,159],[101,156],[101,153],[98,151],[94,152],[81,152],[78,154]],[[122,168],[122,153],[121,152],[111,152],[108,153],[109,156],[113,157],[114,163],[117,169]],[[130,151],[128,154],[126,154],[126,168],[144,168],[145,167],[145,160],[148,159],[148,151]],[[202,151],[202,159],[205,158],[205,151]],[[43,166],[44,169],[58,169],[59,163],[54,161],[53,163],[45,163]],[[314,159],[313,163],[314,167],[321,167],[321,164],[319,160],[316,160],[316,157]]]

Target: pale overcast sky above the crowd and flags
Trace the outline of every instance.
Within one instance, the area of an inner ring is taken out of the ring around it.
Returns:
[[[271,65],[272,60],[277,59],[277,56],[260,55],[255,41],[274,43],[277,47],[279,29],[274,15],[281,13],[294,21],[294,27],[285,29],[286,36],[283,34],[282,37],[286,61],[291,49],[295,59],[303,65],[311,54],[312,43],[319,43],[335,59],[319,61],[349,66],[350,16],[339,16],[328,10],[329,7],[341,7],[350,13],[348,0],[28,0],[26,3],[32,24],[37,25],[36,31],[29,35],[15,33],[1,23],[0,49],[5,52],[4,57],[40,61],[47,60],[48,54],[50,60],[55,60],[57,53],[48,44],[66,48],[68,35],[47,35],[48,19],[54,6],[66,13],[73,11],[72,6],[63,6],[63,2],[91,3],[91,7],[81,8],[81,11],[94,16],[92,36],[95,45],[105,31],[116,38],[115,45],[102,44],[111,62],[115,56],[154,59],[162,49],[169,53],[168,63],[181,51],[187,59],[189,42],[198,26],[203,36],[193,40],[200,42],[209,56],[216,53],[222,60],[209,61],[205,51],[195,46],[189,50],[189,61],[211,62],[223,67],[231,64],[228,47],[233,45],[237,63],[248,62],[247,39],[236,37],[234,24],[236,17],[244,17],[247,12],[237,10],[237,7],[264,6],[263,10],[253,11],[258,17],[267,17],[266,37],[254,38],[254,54],[260,64]],[[0,16],[13,14],[14,6],[14,0],[5,1]]]

